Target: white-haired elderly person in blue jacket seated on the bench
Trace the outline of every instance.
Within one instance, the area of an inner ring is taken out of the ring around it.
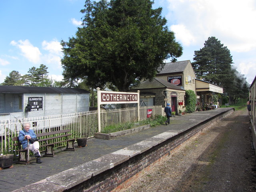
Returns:
[[[40,159],[41,155],[39,151],[39,142],[35,141],[31,143],[29,141],[29,144],[28,144],[28,140],[31,138],[36,138],[36,134],[34,133],[34,130],[30,129],[30,123],[24,123],[24,128],[19,133],[19,141],[22,144],[22,148],[23,149],[29,148],[34,153],[34,156],[36,157],[36,163],[42,163],[42,160]]]

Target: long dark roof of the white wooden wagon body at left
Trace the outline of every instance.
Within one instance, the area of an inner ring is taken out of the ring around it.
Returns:
[[[58,88],[58,87],[30,87],[30,86],[0,86],[0,93],[66,93],[81,94],[89,93],[79,88]]]

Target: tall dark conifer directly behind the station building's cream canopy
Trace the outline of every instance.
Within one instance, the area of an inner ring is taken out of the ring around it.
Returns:
[[[233,79],[231,72],[232,56],[230,50],[215,37],[209,37],[204,47],[195,51],[192,66],[197,78],[217,84],[228,86]]]

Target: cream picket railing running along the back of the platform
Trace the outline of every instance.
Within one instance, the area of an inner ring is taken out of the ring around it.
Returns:
[[[163,115],[162,106],[144,106],[140,107],[140,120],[147,118],[148,109],[152,109],[152,116],[156,114]],[[104,130],[106,126],[136,122],[138,110],[134,107],[102,110],[100,113],[101,127]],[[18,132],[22,130],[24,122],[30,122],[31,128],[36,134],[71,129],[72,138],[91,138],[94,137],[95,132],[98,132],[97,110],[24,119],[0,120],[0,152],[3,150],[15,150],[12,137],[18,136]]]

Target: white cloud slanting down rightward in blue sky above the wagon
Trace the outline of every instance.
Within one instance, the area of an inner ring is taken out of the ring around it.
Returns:
[[[40,50],[33,46],[28,39],[24,41],[19,40],[18,42],[13,40],[10,44],[18,47],[22,52],[22,55],[26,57],[30,62],[35,64],[40,62],[40,56],[42,55]]]

